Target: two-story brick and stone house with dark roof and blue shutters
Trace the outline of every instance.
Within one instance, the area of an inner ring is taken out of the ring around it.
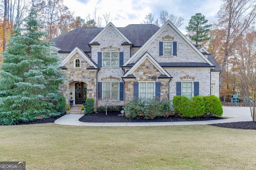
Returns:
[[[66,103],[94,98],[95,107],[145,97],[219,97],[218,66],[205,48],[194,46],[170,21],[162,27],[131,24],[76,28],[52,40],[51,53],[66,78]],[[72,92],[72,95],[70,94]]]

